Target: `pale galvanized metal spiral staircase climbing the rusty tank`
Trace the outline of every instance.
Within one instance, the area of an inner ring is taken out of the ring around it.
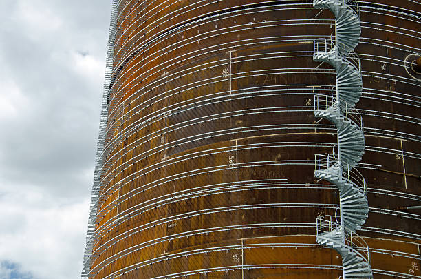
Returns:
[[[344,279],[373,278],[369,247],[355,234],[368,217],[365,179],[355,169],[365,149],[363,119],[354,109],[363,90],[354,53],[361,34],[358,3],[314,0],[313,6],[335,16],[335,38],[314,40],[313,60],[336,71],[336,87],[314,96],[314,116],[332,122],[338,131],[333,154],[316,154],[314,176],[336,185],[340,197],[340,216],[317,218],[316,242],[341,254]]]

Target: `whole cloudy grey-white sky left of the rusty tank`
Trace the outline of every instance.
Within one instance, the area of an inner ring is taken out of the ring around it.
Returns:
[[[0,0],[0,279],[80,278],[111,0]]]

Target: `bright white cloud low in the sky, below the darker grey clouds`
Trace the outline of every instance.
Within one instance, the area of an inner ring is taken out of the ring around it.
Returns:
[[[39,187],[1,190],[0,259],[19,262],[34,278],[80,276],[89,197],[75,203]]]

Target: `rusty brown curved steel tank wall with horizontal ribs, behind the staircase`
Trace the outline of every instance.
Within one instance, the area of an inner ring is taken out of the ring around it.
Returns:
[[[421,4],[358,2],[358,233],[374,278],[418,278]],[[312,40],[333,31],[312,1],[114,1],[83,278],[341,276],[315,239],[338,208],[314,179],[336,130],[313,116],[335,73]]]

